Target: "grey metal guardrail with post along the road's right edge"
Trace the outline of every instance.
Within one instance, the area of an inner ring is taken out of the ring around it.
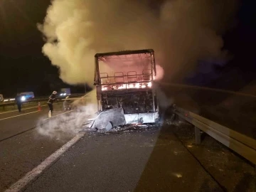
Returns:
[[[235,132],[198,114],[174,106],[174,113],[195,126],[196,144],[201,143],[201,131],[256,165],[256,140]]]

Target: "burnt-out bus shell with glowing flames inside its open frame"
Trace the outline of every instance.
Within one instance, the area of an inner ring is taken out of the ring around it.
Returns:
[[[152,49],[97,53],[97,110],[122,108],[126,124],[157,122],[159,105],[153,88],[155,76]]]

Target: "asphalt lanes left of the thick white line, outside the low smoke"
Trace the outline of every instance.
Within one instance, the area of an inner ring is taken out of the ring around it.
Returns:
[[[53,116],[65,113],[56,104]],[[53,117],[54,118],[54,117]],[[56,139],[38,133],[38,123],[49,121],[48,106],[23,112],[0,113],[0,191],[31,171],[73,136]]]

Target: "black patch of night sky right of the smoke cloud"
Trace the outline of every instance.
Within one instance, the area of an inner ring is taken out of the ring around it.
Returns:
[[[223,35],[223,49],[232,55],[228,63],[201,63],[196,75],[188,78],[186,83],[239,91],[256,79],[255,5],[254,0],[240,1],[236,24]],[[250,94],[256,95],[256,90]]]

